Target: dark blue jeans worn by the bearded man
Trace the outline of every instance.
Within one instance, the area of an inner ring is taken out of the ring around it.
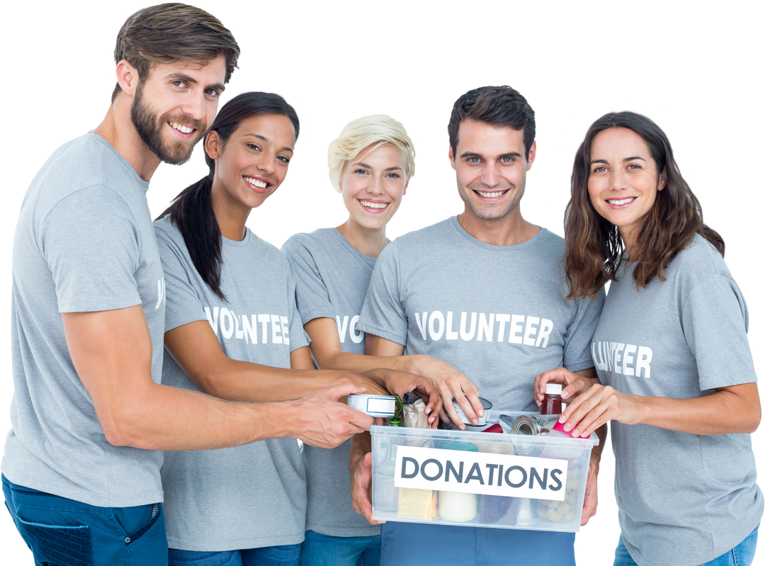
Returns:
[[[96,507],[11,483],[0,473],[3,505],[34,564],[167,566],[161,503]]]

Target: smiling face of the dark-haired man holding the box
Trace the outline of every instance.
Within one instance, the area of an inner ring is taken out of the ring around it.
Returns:
[[[470,119],[460,124],[459,140],[457,148],[447,145],[447,155],[466,220],[520,218],[537,142],[526,155],[522,130]]]

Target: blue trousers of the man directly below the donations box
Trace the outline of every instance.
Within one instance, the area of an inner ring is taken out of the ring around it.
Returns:
[[[389,521],[382,525],[383,566],[575,566],[573,532],[487,529]]]

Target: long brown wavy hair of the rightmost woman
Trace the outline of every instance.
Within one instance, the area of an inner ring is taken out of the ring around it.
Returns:
[[[638,228],[635,249],[628,261],[635,262],[635,287],[646,287],[653,278],[666,280],[664,269],[698,233],[726,258],[724,236],[707,223],[704,205],[682,174],[675,146],[656,119],[639,110],[614,108],[594,119],[584,131],[571,163],[568,200],[562,218],[566,239],[565,271],[567,299],[594,298],[616,273],[624,257],[624,242],[617,226],[598,214],[588,193],[590,152],[596,135],[610,128],[627,128],[648,145],[656,171],[666,171],[664,190],[656,194],[651,210]]]

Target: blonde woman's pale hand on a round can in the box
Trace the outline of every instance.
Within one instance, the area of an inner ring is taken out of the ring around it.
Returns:
[[[463,431],[465,429],[465,425],[457,417],[457,411],[454,410],[452,402],[454,399],[460,405],[467,420],[478,424],[478,417],[483,417],[483,405],[478,398],[478,389],[470,382],[470,379],[440,359],[424,355],[408,357],[412,364],[410,371],[428,378],[441,396],[441,402],[443,402],[441,418],[444,418],[444,421],[456,424]],[[428,424],[432,424],[435,418],[435,415],[431,415],[428,418]]]

